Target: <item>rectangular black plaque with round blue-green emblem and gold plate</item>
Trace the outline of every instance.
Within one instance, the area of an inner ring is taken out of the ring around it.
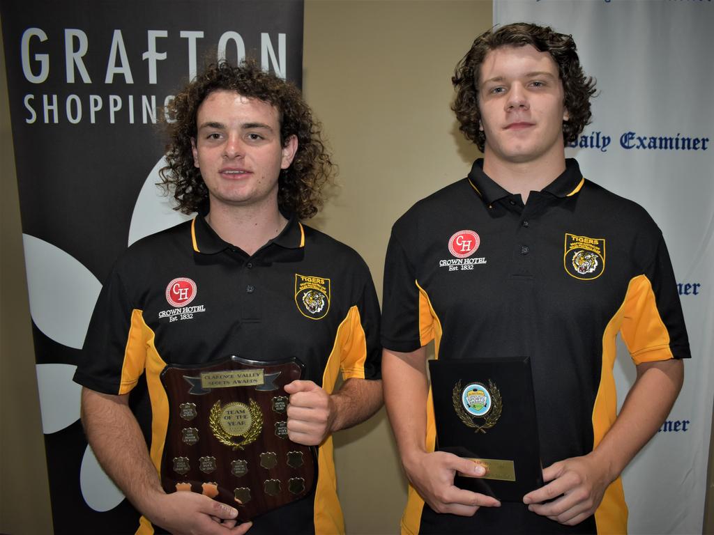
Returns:
[[[431,360],[429,372],[437,449],[488,470],[454,484],[517,502],[543,486],[530,358]]]

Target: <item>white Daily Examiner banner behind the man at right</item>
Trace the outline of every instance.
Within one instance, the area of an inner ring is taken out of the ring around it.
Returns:
[[[629,531],[701,533],[714,398],[714,5],[495,0],[493,21],[573,35],[599,93],[593,123],[568,157],[585,177],[643,205],[663,231],[693,358],[667,421],[623,474]],[[615,367],[621,406],[635,376],[622,344]]]

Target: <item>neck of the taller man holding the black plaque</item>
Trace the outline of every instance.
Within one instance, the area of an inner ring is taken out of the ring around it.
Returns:
[[[535,161],[513,163],[499,158],[483,158],[483,172],[509,193],[520,194],[523,204],[531,191],[540,191],[565,170],[565,156],[538,158]]]

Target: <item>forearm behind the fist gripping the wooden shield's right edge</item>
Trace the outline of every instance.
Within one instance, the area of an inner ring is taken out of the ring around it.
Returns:
[[[382,406],[382,382],[371,379],[347,379],[331,395],[335,419],[331,432],[364,422]]]

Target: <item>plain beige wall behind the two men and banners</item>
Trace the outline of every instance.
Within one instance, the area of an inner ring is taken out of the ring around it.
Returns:
[[[341,169],[309,224],[356,248],[379,293],[393,221],[477,156],[448,109],[450,76],[488,26],[491,0],[306,0],[305,94]],[[49,494],[0,71],[0,533],[40,535],[51,533]],[[396,533],[406,484],[383,412],[335,442],[348,532]],[[709,523],[714,533],[714,514]]]

